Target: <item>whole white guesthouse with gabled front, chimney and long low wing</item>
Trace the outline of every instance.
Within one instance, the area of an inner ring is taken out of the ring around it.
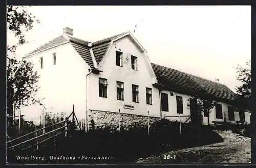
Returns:
[[[40,74],[38,96],[44,97],[47,110],[70,114],[72,105],[85,127],[146,124],[160,118],[182,122],[203,122],[193,110],[195,94],[204,91],[219,102],[209,115],[214,121],[240,121],[244,116],[232,108],[234,93],[219,82],[210,81],[171,68],[152,64],[143,46],[131,32],[96,42],[63,34],[28,53]],[[190,104],[190,105],[188,105]],[[39,111],[38,113],[36,111]],[[41,107],[23,108],[25,116],[38,115]],[[144,121],[145,120],[145,121]],[[245,115],[249,122],[249,116]]]

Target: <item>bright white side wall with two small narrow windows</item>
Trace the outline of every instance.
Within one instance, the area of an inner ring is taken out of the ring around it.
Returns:
[[[56,65],[53,65],[53,52],[56,52]],[[43,68],[40,68],[40,57],[43,58]],[[38,96],[45,98],[42,103],[47,111],[68,115],[74,104],[78,118],[86,116],[86,73],[88,65],[82,60],[70,43],[46,50],[27,58],[34,63],[35,70],[40,75]],[[38,105],[23,108],[25,118],[35,118],[42,109]]]

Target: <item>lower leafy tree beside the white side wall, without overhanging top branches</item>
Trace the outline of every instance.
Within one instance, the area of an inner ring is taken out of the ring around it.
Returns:
[[[7,66],[7,107],[13,109],[27,106],[36,102],[35,95],[39,89],[37,86],[39,75],[33,71],[33,64],[25,60],[10,59]]]

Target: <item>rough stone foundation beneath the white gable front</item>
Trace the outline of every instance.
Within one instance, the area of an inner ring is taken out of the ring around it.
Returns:
[[[118,113],[109,111],[89,110],[88,119],[89,130],[119,130]],[[157,117],[149,117],[150,125],[159,120],[160,118]],[[147,116],[120,113],[120,127],[123,130],[129,130],[133,128],[147,128],[147,126]]]

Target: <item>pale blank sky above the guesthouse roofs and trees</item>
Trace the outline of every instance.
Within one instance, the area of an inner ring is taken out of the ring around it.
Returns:
[[[250,6],[32,6],[39,19],[26,33],[23,56],[62,33],[96,41],[133,31],[152,63],[210,80],[219,79],[234,91],[236,67],[251,57]],[[7,36],[7,44],[14,42]]]

